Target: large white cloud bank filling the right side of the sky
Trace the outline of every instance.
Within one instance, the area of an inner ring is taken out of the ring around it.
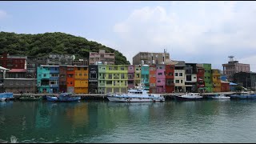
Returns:
[[[200,56],[221,68],[230,53],[256,60],[255,13],[256,2],[170,2],[134,10],[114,32],[130,62],[140,51],[166,48],[171,58],[200,61]]]

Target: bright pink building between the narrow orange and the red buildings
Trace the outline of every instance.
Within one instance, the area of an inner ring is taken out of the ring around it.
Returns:
[[[156,66],[157,67],[157,93],[162,94],[166,93],[166,66],[163,64],[159,64]]]

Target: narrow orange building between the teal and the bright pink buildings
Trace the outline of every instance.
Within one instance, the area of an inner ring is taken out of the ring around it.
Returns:
[[[156,94],[157,93],[157,66],[150,65],[150,94]]]

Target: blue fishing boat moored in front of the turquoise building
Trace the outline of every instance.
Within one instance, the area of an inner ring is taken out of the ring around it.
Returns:
[[[46,99],[50,102],[78,102],[81,97],[74,96],[75,93],[62,93],[58,96],[47,95]]]

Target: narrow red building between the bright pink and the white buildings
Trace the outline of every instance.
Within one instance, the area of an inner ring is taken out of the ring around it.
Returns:
[[[174,65],[166,64],[166,93],[174,92]]]

